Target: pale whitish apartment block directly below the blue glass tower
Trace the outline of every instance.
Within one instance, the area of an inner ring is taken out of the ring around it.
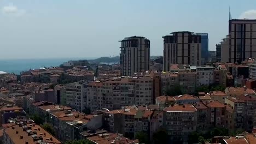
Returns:
[[[196,85],[200,86],[209,86],[213,80],[213,67],[196,67]]]

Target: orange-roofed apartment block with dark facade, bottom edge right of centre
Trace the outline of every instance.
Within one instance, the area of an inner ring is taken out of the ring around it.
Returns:
[[[188,135],[196,131],[197,110],[193,105],[173,105],[164,109],[166,118],[164,127],[167,130],[169,142],[188,141]]]

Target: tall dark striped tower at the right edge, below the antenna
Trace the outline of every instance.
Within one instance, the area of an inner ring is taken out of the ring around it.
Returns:
[[[229,20],[229,62],[256,57],[256,20]]]

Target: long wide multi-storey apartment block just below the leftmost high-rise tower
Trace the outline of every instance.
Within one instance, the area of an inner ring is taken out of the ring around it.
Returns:
[[[151,77],[120,77],[103,82],[103,106],[109,110],[133,104],[153,104]]]

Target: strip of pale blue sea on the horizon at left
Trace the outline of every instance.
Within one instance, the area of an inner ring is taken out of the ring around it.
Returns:
[[[64,62],[88,58],[48,58],[48,59],[0,59],[0,71],[19,75],[22,71],[39,69],[42,67],[57,67]]]

